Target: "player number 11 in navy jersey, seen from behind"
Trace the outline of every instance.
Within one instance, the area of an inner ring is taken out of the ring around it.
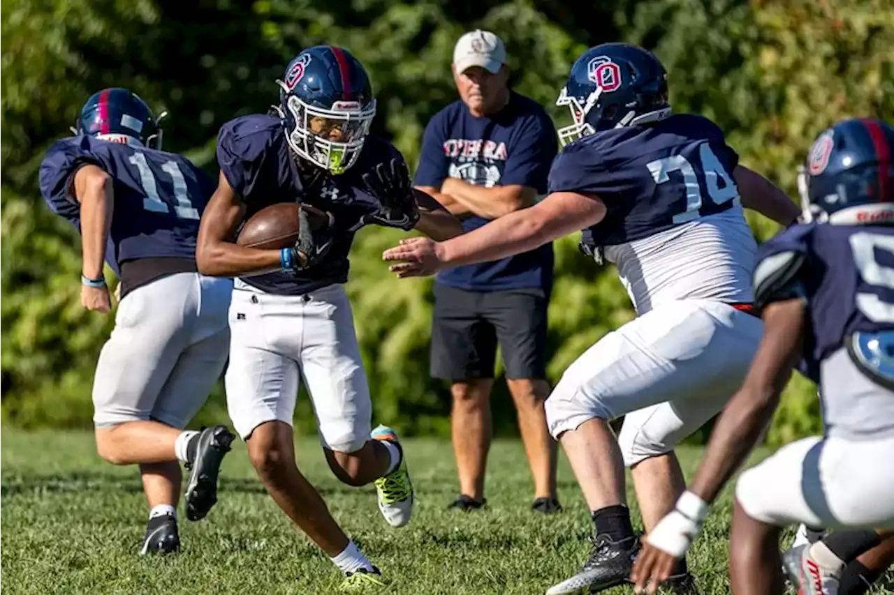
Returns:
[[[74,130],[46,151],[40,190],[80,231],[81,304],[111,309],[104,259],[121,280],[93,381],[97,451],[139,465],[150,508],[140,553],[178,551],[178,459],[190,469],[186,515],[197,521],[215,505],[234,438],[223,425],[183,431],[223,372],[230,335],[232,281],[198,274],[195,257],[214,184],[161,150],[158,119],[125,88],[90,96]]]

